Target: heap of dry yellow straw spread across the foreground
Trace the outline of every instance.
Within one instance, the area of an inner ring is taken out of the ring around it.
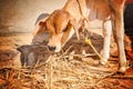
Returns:
[[[112,72],[96,69],[94,62],[89,63],[65,56],[51,56],[47,62],[32,69],[6,67],[4,69],[9,70],[6,71],[3,80],[8,80],[8,83],[3,87],[10,89],[80,89],[83,85],[88,85],[89,88],[99,87],[98,82]]]

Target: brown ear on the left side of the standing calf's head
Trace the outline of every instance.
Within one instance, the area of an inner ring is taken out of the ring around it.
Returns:
[[[44,33],[45,31],[47,31],[45,21],[40,21],[34,28],[33,36]]]

